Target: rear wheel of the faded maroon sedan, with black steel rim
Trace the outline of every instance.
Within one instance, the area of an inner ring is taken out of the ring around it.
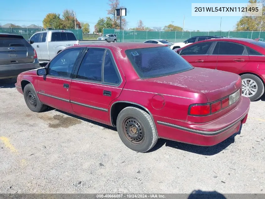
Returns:
[[[117,130],[125,146],[137,152],[149,151],[158,139],[151,116],[136,107],[121,110],[117,118]]]

